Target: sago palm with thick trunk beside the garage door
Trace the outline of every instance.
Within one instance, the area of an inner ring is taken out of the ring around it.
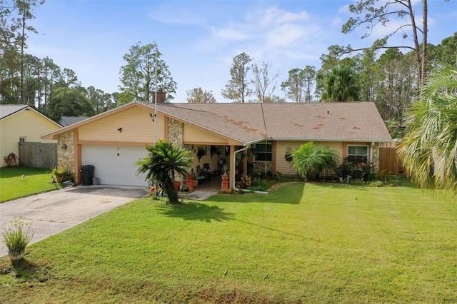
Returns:
[[[146,173],[146,181],[161,183],[169,196],[170,203],[178,203],[178,193],[174,189],[175,173],[185,175],[192,165],[191,152],[168,141],[159,140],[156,146],[146,145],[149,155],[136,161],[137,175]]]

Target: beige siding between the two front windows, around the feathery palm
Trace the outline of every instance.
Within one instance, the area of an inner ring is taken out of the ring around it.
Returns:
[[[303,141],[277,141],[276,142],[276,171],[279,171],[286,175],[296,175],[297,172],[290,161],[286,161],[286,149],[292,148],[292,150],[298,149]],[[315,145],[328,146],[333,150],[337,151],[341,158],[343,158],[343,143],[342,142],[331,142],[331,141],[316,141]]]

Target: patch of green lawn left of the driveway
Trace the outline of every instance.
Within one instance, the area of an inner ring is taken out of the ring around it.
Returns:
[[[24,175],[24,178],[22,176]],[[45,168],[0,168],[0,203],[59,188]]]

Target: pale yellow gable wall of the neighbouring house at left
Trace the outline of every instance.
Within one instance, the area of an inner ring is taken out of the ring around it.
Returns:
[[[41,135],[61,128],[48,118],[33,110],[24,110],[0,121],[0,156],[3,159],[9,153],[19,156],[19,137],[26,141],[40,143],[56,143],[57,141],[41,140]]]

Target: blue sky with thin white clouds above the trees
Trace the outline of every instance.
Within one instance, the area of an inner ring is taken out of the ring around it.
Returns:
[[[119,91],[119,69],[129,48],[153,41],[178,83],[173,102],[185,102],[186,91],[221,89],[230,79],[233,56],[246,52],[253,62],[268,62],[278,73],[276,95],[291,69],[319,68],[321,54],[333,44],[370,46],[405,20],[377,27],[368,39],[364,29],[342,34],[353,16],[346,0],[301,1],[66,1],[46,0],[34,10],[27,53],[49,56],[61,69],[73,69],[83,86],[106,93]],[[416,0],[416,18],[421,5]],[[355,17],[355,16],[354,16]],[[457,1],[428,1],[428,41],[439,44],[457,31]],[[412,45],[396,38],[391,44]]]

